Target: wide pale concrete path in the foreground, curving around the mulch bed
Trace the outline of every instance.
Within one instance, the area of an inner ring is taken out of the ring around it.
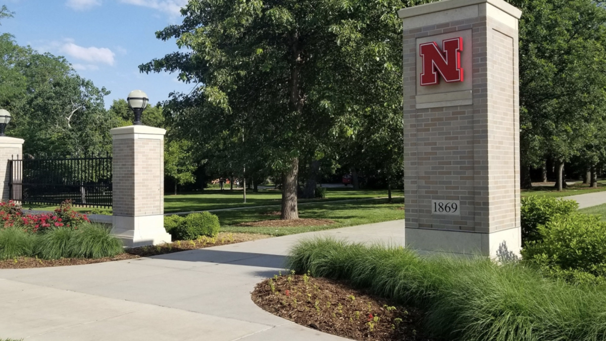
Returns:
[[[249,241],[121,262],[0,270],[0,339],[344,341],[263,311],[256,283],[302,238],[404,243],[404,221]]]

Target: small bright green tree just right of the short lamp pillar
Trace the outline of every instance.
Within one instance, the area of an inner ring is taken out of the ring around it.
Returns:
[[[175,195],[177,185],[194,183],[193,172],[198,165],[191,160],[191,143],[187,140],[168,140],[164,148],[164,174],[175,180]]]

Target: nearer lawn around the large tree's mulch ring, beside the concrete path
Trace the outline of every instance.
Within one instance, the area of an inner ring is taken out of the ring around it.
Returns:
[[[248,221],[279,219],[278,215],[268,215],[268,212],[277,211],[277,208],[251,208],[236,211],[214,212],[221,222],[221,231],[268,234],[273,236],[298,234],[302,232],[321,231],[325,229],[344,228],[382,221],[404,219],[404,210],[401,209],[404,198],[394,198],[393,203],[387,199],[360,200],[347,203],[316,203],[299,206],[300,218],[330,219],[336,223],[332,225],[304,226],[304,227],[245,227],[237,226]]]

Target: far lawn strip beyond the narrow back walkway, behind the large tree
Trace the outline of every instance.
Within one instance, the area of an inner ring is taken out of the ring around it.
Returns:
[[[404,195],[403,190],[393,191],[392,195],[397,197]],[[351,187],[327,188],[327,197],[322,199],[302,199],[299,203],[327,202],[335,200],[352,200],[364,198],[387,197],[387,190],[362,189],[354,191]],[[242,190],[230,191],[225,189],[205,189],[203,192],[194,194],[179,194],[164,196],[164,212],[190,212],[207,211],[211,209],[255,207],[265,205],[279,205],[282,192],[276,189],[260,189],[259,192],[247,191],[246,201],[243,203]],[[41,211],[52,211],[56,206],[25,205],[24,208],[32,208]],[[74,208],[78,212],[88,212],[90,208]]]

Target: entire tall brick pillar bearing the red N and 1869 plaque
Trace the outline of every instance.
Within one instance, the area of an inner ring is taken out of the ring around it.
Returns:
[[[407,245],[516,256],[521,247],[521,11],[502,0],[444,0],[398,14],[404,24]],[[460,66],[445,43],[453,39],[454,44],[462,40]],[[439,84],[421,77],[424,58],[433,49],[421,45],[432,43],[444,62],[436,59],[425,69],[436,74]],[[461,68],[462,79],[457,79]]]

